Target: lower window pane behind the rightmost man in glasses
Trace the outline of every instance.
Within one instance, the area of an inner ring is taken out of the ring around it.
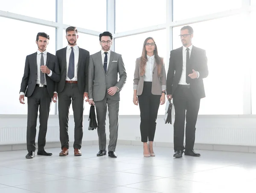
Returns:
[[[201,99],[199,114],[243,114],[244,45],[240,15],[193,23],[193,45],[206,50],[209,76],[204,79],[206,98]],[[173,48],[178,48],[181,27],[173,28]]]

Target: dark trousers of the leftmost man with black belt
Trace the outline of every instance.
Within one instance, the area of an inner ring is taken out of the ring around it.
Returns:
[[[44,150],[46,142],[47,122],[51,106],[51,97],[45,87],[35,87],[33,94],[28,97],[28,120],[27,120],[27,150],[35,152],[36,124],[39,108],[39,133],[38,150]]]

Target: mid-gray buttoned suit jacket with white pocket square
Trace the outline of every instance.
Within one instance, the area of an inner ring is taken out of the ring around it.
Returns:
[[[117,80],[118,74],[119,81]],[[94,101],[103,100],[105,95],[108,94],[107,89],[113,86],[118,87],[120,92],[125,85],[127,77],[122,56],[111,51],[107,72],[105,73],[101,51],[91,55],[88,77],[89,99]],[[113,100],[120,100],[119,92],[108,97]]]

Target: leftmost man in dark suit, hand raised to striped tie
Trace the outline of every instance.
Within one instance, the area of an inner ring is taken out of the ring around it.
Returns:
[[[27,119],[27,159],[34,157],[36,124],[39,108],[38,155],[51,156],[44,150],[47,122],[54,92],[54,84],[60,80],[59,68],[55,65],[55,56],[46,51],[49,35],[38,33],[36,44],[38,51],[26,57],[24,75],[20,85],[20,103],[24,95],[28,98]],[[26,94],[25,94],[26,93]]]

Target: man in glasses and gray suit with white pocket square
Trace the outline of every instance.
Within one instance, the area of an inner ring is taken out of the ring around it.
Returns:
[[[98,120],[99,152],[106,155],[106,113],[108,105],[110,140],[108,156],[116,158],[118,135],[119,92],[126,81],[125,66],[122,56],[111,51],[112,34],[108,31],[99,34],[102,50],[90,56],[89,62],[89,104],[95,105]],[[119,74],[119,81],[117,76]]]

